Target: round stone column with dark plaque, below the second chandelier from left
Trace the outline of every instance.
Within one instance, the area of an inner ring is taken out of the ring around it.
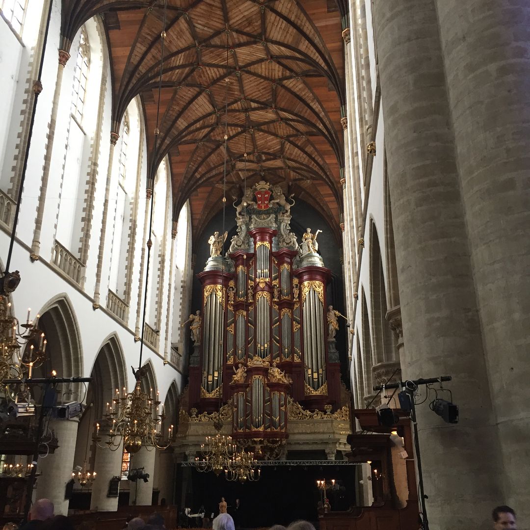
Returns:
[[[116,451],[96,449],[94,471],[97,478],[92,485],[90,509],[96,511],[116,511],[118,497],[107,497],[109,482],[113,476],[120,476],[123,459],[123,444]]]

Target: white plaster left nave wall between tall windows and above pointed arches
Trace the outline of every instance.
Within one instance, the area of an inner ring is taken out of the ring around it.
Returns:
[[[30,0],[32,5],[34,2]],[[37,17],[40,22],[40,13]],[[31,25],[25,27],[25,31],[30,31]],[[33,25],[33,41],[37,40],[36,31],[38,25]],[[51,170],[48,184],[48,193],[46,197],[45,209],[44,209],[44,220],[42,225],[41,233],[41,256],[36,262],[29,260],[29,253],[31,242],[33,238],[33,230],[35,226],[36,210],[39,189],[42,179],[43,161],[46,152],[46,142],[48,135],[49,117],[51,114],[52,99],[54,96],[55,83],[57,78],[58,70],[58,48],[59,48],[59,30],[60,30],[60,2],[54,2],[54,7],[50,19],[50,29],[48,36],[47,48],[45,51],[42,84],[43,91],[39,96],[37,111],[35,116],[35,123],[33,129],[33,135],[31,138],[31,148],[29,153],[28,170],[26,172],[26,180],[24,185],[23,200],[20,211],[19,224],[17,226],[17,237],[20,238],[20,243],[15,243],[13,258],[12,258],[12,269],[19,269],[21,272],[22,281],[19,288],[12,295],[12,303],[15,311],[15,315],[19,315],[20,318],[25,317],[27,308],[32,308],[32,315],[41,311],[46,306],[50,299],[56,298],[58,295],[64,294],[72,304],[75,312],[75,319],[78,324],[80,340],[81,340],[81,351],[83,355],[82,359],[82,373],[76,374],[59,374],[59,375],[76,375],[76,376],[90,376],[91,370],[95,361],[96,356],[100,348],[102,347],[105,339],[110,335],[116,334],[123,348],[123,356],[125,357],[125,364],[127,367],[130,365],[136,366],[138,363],[139,343],[134,342],[134,326],[136,321],[136,308],[137,308],[137,291],[139,282],[143,282],[138,277],[140,270],[140,255],[142,252],[142,238],[143,238],[143,226],[146,222],[144,219],[145,210],[145,187],[146,187],[146,147],[145,139],[143,142],[143,162],[142,162],[142,174],[140,183],[140,192],[138,196],[138,217],[137,217],[137,233],[136,233],[136,245],[135,245],[135,256],[133,260],[133,279],[131,285],[131,301],[130,301],[130,312],[129,321],[127,324],[120,323],[113,315],[111,315],[105,307],[105,299],[108,291],[108,276],[110,270],[110,249],[112,242],[112,230],[114,227],[113,216],[109,214],[107,223],[107,237],[105,240],[105,250],[103,253],[103,267],[102,267],[102,303],[101,308],[94,311],[92,308],[93,294],[95,287],[96,277],[96,266],[98,260],[98,251],[101,237],[101,218],[103,215],[103,199],[105,195],[105,181],[107,179],[107,167],[109,160],[110,150],[110,119],[111,119],[111,91],[110,91],[110,69],[108,67],[108,59],[105,59],[102,54],[107,53],[106,43],[100,39],[96,21],[92,20],[87,23],[87,31],[89,33],[89,41],[91,44],[91,68],[89,76],[92,76],[92,80],[89,80],[89,87],[87,89],[86,98],[86,110],[85,117],[81,123],[81,126],[86,134],[85,145],[83,148],[82,158],[80,160],[80,186],[84,189],[87,179],[87,171],[89,169],[89,156],[91,155],[93,148],[93,140],[95,134],[101,134],[101,143],[99,153],[96,153],[96,160],[98,170],[96,172],[96,187],[94,197],[94,211],[93,211],[93,223],[92,231],[90,234],[89,241],[89,253],[86,262],[86,281],[84,288],[81,289],[73,282],[65,279],[60,272],[58,272],[51,261],[51,249],[55,240],[56,233],[56,219],[59,206],[59,197],[61,191],[61,176],[63,173],[63,164],[65,158],[65,145],[68,133],[68,124],[70,122],[70,105],[72,98],[72,82],[74,73],[74,62],[77,54],[79,34],[74,39],[72,49],[70,49],[71,58],[68,61],[63,75],[63,85],[61,86],[60,102],[57,115],[57,127],[56,134],[54,137],[54,148],[51,156]],[[99,43],[98,43],[99,40]],[[8,59],[2,63],[0,69],[1,82],[3,86],[7,87],[9,95],[9,105],[12,110],[8,113],[9,119],[0,123],[0,139],[2,140],[3,149],[3,165],[11,167],[13,165],[14,156],[14,140],[16,139],[16,129],[19,127],[20,112],[23,105],[23,93],[25,88],[29,85],[26,82],[29,61],[29,52],[27,48],[23,48],[20,42],[14,37],[12,31],[7,27],[7,24],[0,20],[0,49],[10,50]],[[3,51],[2,56],[5,58],[6,53]],[[106,65],[106,70],[103,71],[103,67]],[[99,104],[99,87],[101,85],[102,75],[107,76],[107,84],[105,93],[103,94],[103,125],[101,131],[95,131],[95,120],[96,112]],[[19,81],[17,83],[17,80]],[[25,84],[25,86],[24,86]],[[96,90],[94,90],[96,87]],[[5,100],[4,105],[7,103]],[[86,119],[85,119],[86,118]],[[15,137],[15,138],[14,138]],[[7,141],[6,141],[7,138]],[[136,153],[133,152],[134,145],[130,146],[130,155],[133,162],[131,162],[131,170],[136,171],[137,167],[137,149],[138,142],[136,142]],[[119,153],[115,153],[114,160],[117,162]],[[4,171],[4,170],[3,170]],[[67,177],[67,175],[65,175]],[[11,176],[3,180],[10,180]],[[112,176],[111,180],[111,196],[116,196],[117,187],[117,176]],[[3,191],[6,191],[2,187]],[[113,206],[113,205],[112,205]],[[112,206],[110,208],[112,208]],[[171,208],[170,208],[171,209]],[[171,211],[168,215],[171,215]],[[57,227],[60,231],[61,227]],[[73,226],[73,231],[78,227]],[[185,231],[184,231],[185,232]],[[79,236],[80,234],[78,234]],[[159,236],[160,237],[160,236]],[[0,248],[7,249],[9,241],[9,234],[5,231],[0,230]],[[73,241],[76,241],[75,235]],[[166,245],[166,272],[163,278],[163,285],[161,286],[163,296],[163,311],[162,320],[165,324],[167,306],[167,293],[168,284],[170,277],[170,252],[171,252],[171,234],[168,230],[167,240],[164,242]],[[74,249],[72,249],[74,250]],[[75,249],[77,250],[77,249]],[[75,254],[76,252],[74,252]],[[5,262],[6,255],[2,254],[2,261]],[[157,270],[157,267],[153,272]],[[180,306],[179,296],[180,291],[178,289],[179,284],[174,286],[174,301],[171,304],[173,307]],[[170,320],[172,322],[173,315],[170,312]],[[164,328],[165,329],[165,328]],[[161,330],[163,331],[163,330]],[[172,333],[170,333],[171,337]],[[161,337],[163,337],[161,333]],[[179,389],[182,388],[182,376],[176,372],[171,365],[163,364],[163,351],[164,341],[161,340],[160,351],[155,352],[152,348],[144,345],[144,358],[143,361],[150,361],[153,365],[153,369],[156,376],[156,382],[158,391],[160,391],[160,397],[163,401],[167,389],[169,388],[172,381],[176,381]],[[128,368],[127,381],[129,390],[133,385],[134,379],[132,374],[129,373]],[[109,395],[110,398],[110,395]]]

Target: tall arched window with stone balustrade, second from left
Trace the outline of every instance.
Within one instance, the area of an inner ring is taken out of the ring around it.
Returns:
[[[101,139],[106,110],[100,104],[108,75],[103,34],[98,19],[90,19],[72,43],[72,59],[63,75],[64,91],[61,91],[55,137],[57,145],[65,138],[66,155],[56,190],[59,205],[54,263],[80,284],[93,228],[98,163],[103,162],[99,159],[100,142],[95,141]],[[65,259],[66,263],[73,263],[75,270],[81,270],[80,275],[72,276],[69,272],[72,267],[64,266]]]

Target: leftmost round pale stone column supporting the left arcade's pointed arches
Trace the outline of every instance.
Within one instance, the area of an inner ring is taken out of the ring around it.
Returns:
[[[77,420],[52,420],[49,429],[54,431],[59,447],[46,458],[39,458],[36,499],[50,499],[55,506],[55,515],[68,515],[68,500],[65,500],[66,483],[72,479]]]

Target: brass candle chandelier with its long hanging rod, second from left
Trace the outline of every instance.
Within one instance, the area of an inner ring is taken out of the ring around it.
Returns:
[[[166,38],[166,12],[167,0],[164,2],[163,14],[163,29],[160,34],[161,38],[161,56],[160,56],[160,75],[158,78],[158,101],[156,108],[156,127],[154,130],[154,148],[153,160],[157,160],[158,150],[158,135],[160,134],[159,120],[160,120],[160,98],[162,92],[162,71],[164,63],[164,42]],[[166,449],[173,441],[173,426],[169,427],[167,431],[167,438],[164,438],[162,433],[164,423],[164,410],[159,414],[160,401],[154,396],[149,396],[142,391],[142,378],[147,375],[147,370],[142,367],[142,354],[144,348],[144,333],[146,321],[146,307],[147,307],[147,287],[149,285],[149,258],[151,257],[151,247],[153,242],[151,234],[153,231],[153,205],[154,205],[154,176],[148,177],[148,190],[153,193],[151,198],[151,211],[149,216],[149,240],[147,241],[147,263],[145,272],[144,285],[144,311],[142,319],[142,337],[140,337],[140,354],[138,361],[138,369],[133,368],[133,374],[136,379],[136,384],[133,392],[123,392],[120,395],[118,388],[116,389],[116,396],[107,403],[107,410],[102,420],[102,423],[96,423],[94,441],[101,448],[109,448],[116,451],[121,446],[123,441],[123,448],[128,453],[137,453],[140,448],[145,447],[148,451],[156,449]],[[105,441],[100,437],[100,430],[102,436],[107,439]],[[103,443],[102,443],[103,441]]]

